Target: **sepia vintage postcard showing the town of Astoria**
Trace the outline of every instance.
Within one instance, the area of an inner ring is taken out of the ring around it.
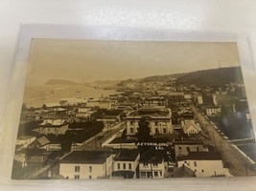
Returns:
[[[256,174],[235,42],[34,38],[12,179]]]

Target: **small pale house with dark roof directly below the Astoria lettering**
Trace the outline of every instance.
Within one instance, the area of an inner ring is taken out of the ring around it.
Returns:
[[[141,154],[139,160],[140,179],[163,179],[166,167],[164,153],[150,149]]]

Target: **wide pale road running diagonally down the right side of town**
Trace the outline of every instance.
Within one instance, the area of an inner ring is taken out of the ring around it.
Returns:
[[[221,133],[215,129],[212,124],[194,105],[191,105],[192,111],[195,113],[201,128],[211,138],[216,150],[221,152],[222,159],[233,176],[255,176],[256,171],[251,162],[246,159],[237,149],[232,146],[231,142],[225,141]]]

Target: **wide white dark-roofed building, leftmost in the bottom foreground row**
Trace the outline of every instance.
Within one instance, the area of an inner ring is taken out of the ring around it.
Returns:
[[[59,175],[72,180],[109,178],[112,163],[108,151],[73,151],[59,160]]]

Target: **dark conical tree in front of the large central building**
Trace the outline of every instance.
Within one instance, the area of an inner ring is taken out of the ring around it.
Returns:
[[[149,118],[142,117],[139,121],[139,128],[137,132],[138,141],[150,141],[151,140],[151,128],[149,126]]]

